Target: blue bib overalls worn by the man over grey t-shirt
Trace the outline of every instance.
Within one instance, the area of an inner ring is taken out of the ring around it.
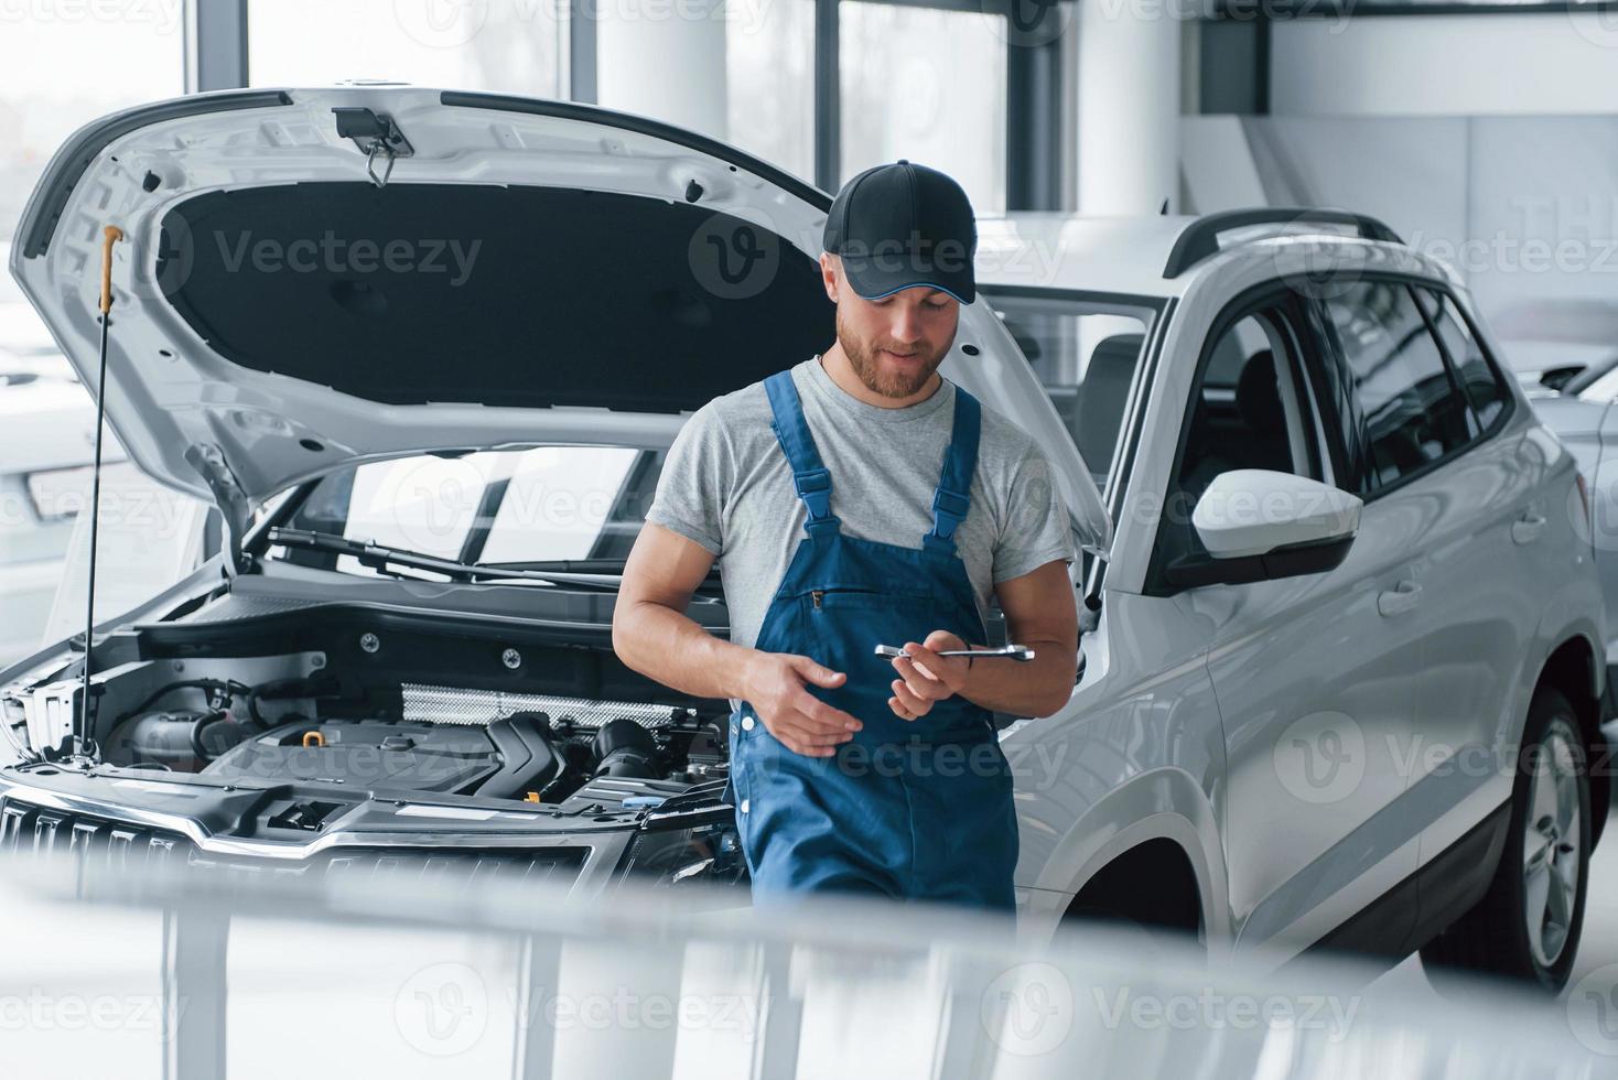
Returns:
[[[1011,910],[1016,812],[990,711],[955,695],[919,719],[901,719],[888,708],[898,673],[874,653],[877,643],[921,642],[937,629],[985,640],[971,579],[955,553],[977,464],[977,399],[956,386],[932,532],[921,548],[904,548],[840,530],[832,475],[791,373],[767,378],[765,390],[772,427],[807,506],[807,535],[756,647],[846,673],[843,686],[809,686],[809,692],[864,728],[837,757],[817,758],[788,750],[749,702],[731,713],[731,794],[754,899],[846,891]]]

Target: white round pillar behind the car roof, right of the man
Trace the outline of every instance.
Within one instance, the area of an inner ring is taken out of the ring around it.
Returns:
[[[1079,212],[1180,207],[1175,3],[1079,0]]]

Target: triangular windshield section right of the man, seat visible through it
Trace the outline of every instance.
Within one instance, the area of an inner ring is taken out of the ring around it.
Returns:
[[[1057,291],[984,291],[1105,491],[1155,309],[1146,301],[1136,307]]]

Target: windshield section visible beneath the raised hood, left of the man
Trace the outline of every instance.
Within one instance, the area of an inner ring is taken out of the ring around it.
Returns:
[[[372,461],[320,479],[278,524],[482,566],[610,566],[634,545],[662,459],[663,451],[626,446],[534,446]],[[330,550],[272,545],[269,555],[382,572]]]

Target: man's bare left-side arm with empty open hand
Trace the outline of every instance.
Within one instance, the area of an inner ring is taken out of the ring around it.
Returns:
[[[796,753],[830,757],[861,723],[804,689],[835,687],[843,673],[809,656],[765,653],[720,640],[686,616],[714,553],[647,522],[623,567],[612,616],[618,658],[641,674],[694,697],[749,702],[764,726]]]

